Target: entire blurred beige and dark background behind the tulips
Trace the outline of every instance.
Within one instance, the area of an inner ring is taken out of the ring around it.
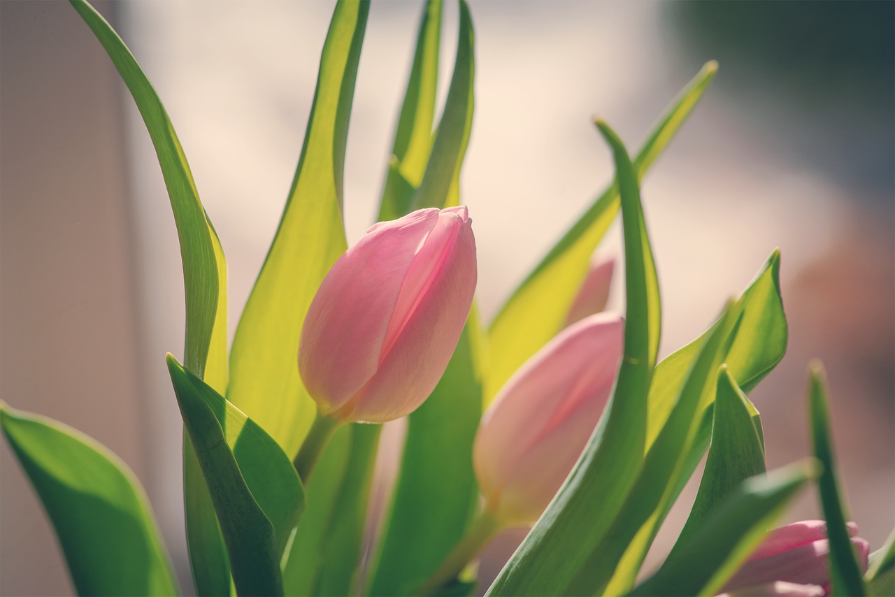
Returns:
[[[227,255],[232,330],[283,209],[334,4],[97,4],[183,142]],[[345,161],[349,241],[375,217],[421,10],[371,7]],[[810,451],[805,366],[819,357],[853,518],[879,548],[895,525],[895,4],[481,1],[472,11],[462,196],[484,316],[610,182],[592,116],[633,151],[717,59],[712,89],[644,183],[661,353],[702,333],[779,246],[789,349],[752,394],[768,464]],[[442,40],[446,88],[454,4]],[[620,255],[617,230],[600,252]],[[623,307],[620,282],[610,308]],[[163,359],[183,346],[174,221],[132,99],[67,3],[0,2],[0,329],[0,397],[122,456],[186,581],[181,426]],[[72,593],[38,500],[0,444],[0,593]],[[695,485],[647,567],[694,495]],[[805,491],[783,522],[815,516]],[[523,535],[490,546],[483,577]]]

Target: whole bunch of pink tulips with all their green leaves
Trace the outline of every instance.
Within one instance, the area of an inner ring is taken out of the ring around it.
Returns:
[[[816,457],[765,470],[761,417],[746,395],[787,344],[779,253],[703,336],[657,360],[660,296],[639,183],[714,64],[634,159],[596,122],[615,181],[485,326],[473,297],[474,211],[459,189],[473,117],[469,9],[460,0],[434,124],[442,5],[425,5],[379,223],[348,248],[345,139],[369,6],[341,0],[286,208],[228,350],[224,252],[174,127],[122,39],[89,4],[72,4],[132,93],[174,211],[186,339],[183,362],[168,354],[167,364],[200,595],[471,594],[482,547],[514,526],[531,530],[487,594],[891,594],[895,544],[869,554],[840,498],[818,365],[808,409]],[[624,320],[599,312],[613,263],[590,265],[619,211]],[[381,423],[401,417],[399,473],[376,516]],[[178,592],[124,463],[42,416],[3,405],[0,421],[79,593]],[[677,543],[641,574],[706,452]],[[809,482],[826,520],[769,531]]]

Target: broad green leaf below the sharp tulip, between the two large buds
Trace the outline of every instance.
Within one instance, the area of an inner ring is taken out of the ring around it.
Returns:
[[[415,594],[475,514],[473,439],[482,415],[482,341],[473,308],[438,387],[408,417],[372,595]]]

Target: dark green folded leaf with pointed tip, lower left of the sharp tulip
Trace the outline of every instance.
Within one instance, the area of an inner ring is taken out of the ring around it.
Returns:
[[[236,592],[282,594],[280,557],[304,507],[291,459],[171,354],[167,365],[224,535]]]

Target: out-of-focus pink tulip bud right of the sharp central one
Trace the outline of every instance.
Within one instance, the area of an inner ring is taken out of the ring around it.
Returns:
[[[500,390],[473,447],[491,516],[505,525],[541,516],[600,419],[622,345],[621,318],[592,315],[560,332]]]

